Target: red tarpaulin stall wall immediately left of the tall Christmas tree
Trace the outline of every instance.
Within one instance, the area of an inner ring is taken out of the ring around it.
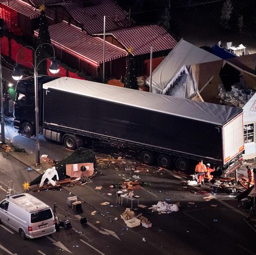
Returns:
[[[28,68],[33,68],[34,61],[33,61],[33,51],[29,48],[22,48],[23,45],[18,44],[14,39],[11,39],[11,58],[13,61],[24,65]],[[21,51],[20,48],[22,48]],[[19,53],[18,53],[19,52]],[[18,53],[18,55],[17,55]]]

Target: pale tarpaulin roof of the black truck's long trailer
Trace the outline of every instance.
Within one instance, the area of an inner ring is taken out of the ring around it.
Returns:
[[[224,125],[242,109],[187,100],[184,98],[153,94],[130,88],[121,88],[69,77],[61,77],[45,83],[44,89],[56,89],[68,93],[99,98],[100,100],[130,105],[150,111]]]

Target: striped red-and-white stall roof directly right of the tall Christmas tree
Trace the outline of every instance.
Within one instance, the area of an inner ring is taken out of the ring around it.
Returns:
[[[53,46],[78,57],[94,67],[103,62],[103,40],[87,35],[80,28],[69,25],[66,21],[49,26]],[[38,30],[34,32],[38,37]],[[113,44],[105,42],[105,62],[126,56],[127,52]]]

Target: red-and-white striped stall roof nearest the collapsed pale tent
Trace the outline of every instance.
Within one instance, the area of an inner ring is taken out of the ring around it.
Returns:
[[[132,48],[133,55],[150,53],[151,46],[153,52],[172,50],[177,44],[164,28],[157,25],[124,28],[107,34],[113,35],[127,50]]]

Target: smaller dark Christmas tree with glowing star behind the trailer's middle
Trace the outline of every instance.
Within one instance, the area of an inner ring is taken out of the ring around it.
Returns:
[[[127,56],[127,65],[125,70],[125,77],[124,77],[124,87],[125,88],[133,88],[139,89],[136,72],[135,72],[135,60],[133,56],[133,48],[130,47],[128,49],[128,56]]]

